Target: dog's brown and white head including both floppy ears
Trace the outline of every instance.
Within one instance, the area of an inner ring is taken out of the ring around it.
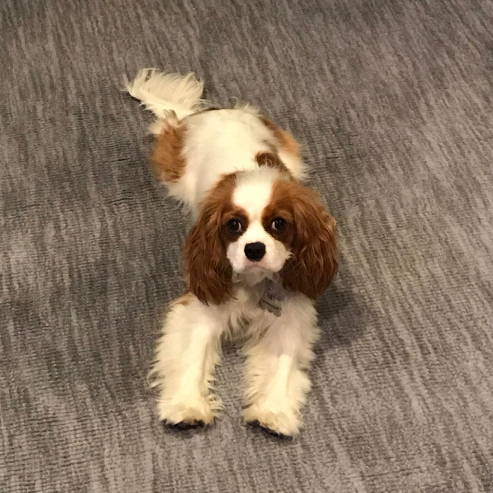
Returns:
[[[204,200],[185,260],[192,292],[207,303],[231,296],[233,273],[260,281],[278,272],[286,289],[315,298],[337,271],[335,221],[288,174],[270,167],[238,172]]]

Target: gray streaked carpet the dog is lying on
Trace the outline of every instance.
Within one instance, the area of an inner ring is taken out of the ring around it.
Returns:
[[[493,3],[4,0],[0,491],[493,491]],[[155,418],[187,221],[146,164],[144,66],[195,70],[304,145],[340,274],[306,428]]]

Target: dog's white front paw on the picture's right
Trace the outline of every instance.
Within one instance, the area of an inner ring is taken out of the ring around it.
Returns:
[[[289,408],[272,409],[265,404],[252,404],[243,411],[243,419],[283,437],[295,437],[301,428],[298,412]]]

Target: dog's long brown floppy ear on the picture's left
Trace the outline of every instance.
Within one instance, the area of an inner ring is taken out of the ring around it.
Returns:
[[[206,305],[231,296],[232,268],[220,236],[221,211],[208,204],[185,240],[184,258],[190,291]]]

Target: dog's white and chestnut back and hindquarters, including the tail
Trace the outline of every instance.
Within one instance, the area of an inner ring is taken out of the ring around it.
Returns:
[[[271,155],[295,179],[304,175],[298,144],[287,132],[248,104],[209,108],[201,99],[203,83],[194,74],[141,70],[128,92],[158,117],[150,161],[170,195],[196,213],[218,179],[258,169],[259,157]],[[269,161],[268,161],[269,162]]]

